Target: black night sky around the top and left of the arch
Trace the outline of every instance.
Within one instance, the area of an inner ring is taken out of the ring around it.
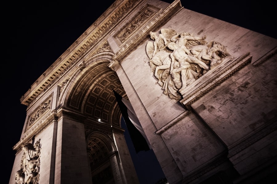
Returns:
[[[8,183],[26,117],[20,97],[114,1],[19,1],[2,4],[2,170]],[[173,2],[167,0],[166,2]],[[276,2],[185,1],[184,8],[277,38]],[[151,154],[150,154],[151,155]],[[143,155],[144,156],[144,155]],[[135,155],[138,159],[142,155]],[[146,174],[147,175],[147,174]],[[147,175],[145,178],[150,178]],[[144,178],[142,178],[143,180]],[[144,180],[145,181],[145,180]],[[151,182],[149,182],[150,184]],[[148,184],[145,181],[145,184]]]

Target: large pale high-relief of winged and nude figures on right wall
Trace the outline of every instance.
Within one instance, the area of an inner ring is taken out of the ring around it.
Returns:
[[[200,76],[231,56],[226,47],[206,36],[178,33],[173,29],[150,32],[146,45],[151,72],[158,79],[164,94],[180,100],[182,91]]]

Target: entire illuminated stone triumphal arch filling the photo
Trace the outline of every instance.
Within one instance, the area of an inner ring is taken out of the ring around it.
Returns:
[[[184,33],[195,38],[182,42]],[[179,1],[115,1],[22,96],[10,184],[22,146],[38,140],[39,181],[138,183],[113,89],[133,105],[170,184],[266,178],[277,158],[276,46]]]

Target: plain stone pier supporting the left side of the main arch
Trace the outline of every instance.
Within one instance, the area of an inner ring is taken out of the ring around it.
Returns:
[[[91,184],[84,124],[61,114],[57,127],[55,183]]]

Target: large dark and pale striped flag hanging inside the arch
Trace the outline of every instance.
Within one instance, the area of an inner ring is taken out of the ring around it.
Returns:
[[[139,151],[147,151],[152,149],[131,103],[114,90],[113,92],[122,117],[125,121],[126,127],[129,131],[136,153]]]

